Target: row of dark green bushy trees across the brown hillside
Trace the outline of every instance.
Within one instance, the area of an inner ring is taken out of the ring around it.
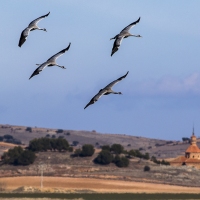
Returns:
[[[64,138],[35,138],[29,142],[29,146],[24,150],[22,147],[14,147],[5,152],[2,156],[2,160],[5,164],[13,165],[29,165],[36,159],[36,152],[45,151],[59,151],[59,152],[73,152],[73,147],[69,146],[69,143]],[[95,152],[94,146],[91,144],[85,144],[80,149],[76,149],[71,157],[87,157],[92,156]],[[111,146],[104,145],[101,147],[100,153],[94,158],[94,163],[108,165],[114,163],[118,167],[128,167],[129,159],[132,157],[138,157],[149,160],[148,153],[141,153],[139,150],[131,149],[127,151],[121,144],[113,144]],[[162,160],[159,161],[156,157],[152,157],[151,161],[157,164],[169,165],[168,162]]]

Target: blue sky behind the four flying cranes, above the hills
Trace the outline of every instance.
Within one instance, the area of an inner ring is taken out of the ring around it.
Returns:
[[[199,1],[6,1],[0,2],[0,123],[96,130],[160,139],[200,136]],[[19,48],[21,31],[35,18],[47,32],[32,31]],[[113,40],[141,17],[111,57]],[[58,51],[67,69],[46,68]],[[109,95],[83,109],[108,83]]]

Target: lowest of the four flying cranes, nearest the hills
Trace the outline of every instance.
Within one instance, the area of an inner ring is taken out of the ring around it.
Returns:
[[[122,94],[121,92],[114,92],[112,90],[112,87],[118,83],[119,81],[121,81],[122,79],[126,78],[127,74],[129,72],[127,72],[124,76],[116,79],[115,81],[111,82],[110,84],[108,84],[106,87],[104,87],[103,89],[99,90],[99,92],[90,100],[90,102],[85,106],[84,109],[86,109],[89,105],[95,103],[96,101],[99,100],[99,98],[102,96],[102,95],[108,95],[108,94]]]

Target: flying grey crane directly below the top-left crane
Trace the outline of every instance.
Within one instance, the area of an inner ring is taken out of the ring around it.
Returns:
[[[65,53],[65,51],[68,51],[68,49],[70,48],[71,43],[69,43],[69,46],[66,49],[63,49],[62,51],[58,52],[57,54],[53,55],[51,58],[49,58],[46,62],[42,63],[42,64],[36,64],[39,65],[39,67],[33,72],[33,74],[31,75],[31,77],[29,79],[31,79],[33,76],[38,75],[45,67],[51,67],[51,66],[58,66],[62,69],[66,69],[64,66],[60,66],[56,63],[56,59],[61,56],[62,54]]]

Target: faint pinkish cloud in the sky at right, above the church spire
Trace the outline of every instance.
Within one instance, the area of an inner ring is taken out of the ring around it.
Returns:
[[[134,85],[134,93],[141,95],[200,95],[200,74],[193,73],[182,79],[165,76],[158,81],[148,80]]]

